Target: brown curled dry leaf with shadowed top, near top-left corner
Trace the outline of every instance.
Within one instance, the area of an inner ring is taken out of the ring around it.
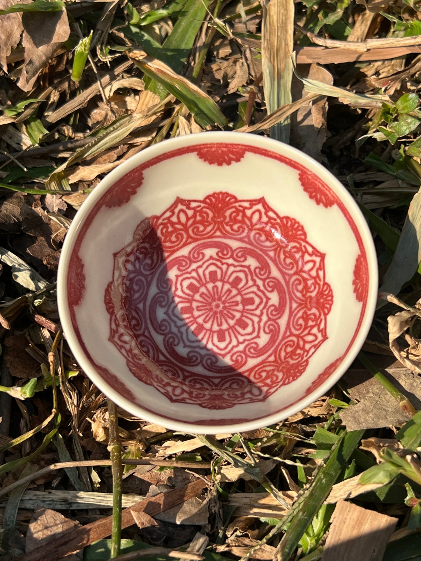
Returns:
[[[25,28],[22,36],[25,59],[17,85],[21,90],[29,91],[49,59],[67,41],[70,27],[66,10],[24,13],[22,24]]]

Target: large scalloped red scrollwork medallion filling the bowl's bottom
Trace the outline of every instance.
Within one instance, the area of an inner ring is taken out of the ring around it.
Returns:
[[[333,294],[299,222],[219,192],[140,223],[104,302],[136,378],[172,402],[225,409],[303,374]]]

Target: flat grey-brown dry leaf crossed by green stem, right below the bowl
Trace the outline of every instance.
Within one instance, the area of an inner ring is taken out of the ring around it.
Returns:
[[[417,411],[421,409],[421,386],[410,370],[388,368],[383,374],[408,397]],[[349,370],[342,380],[351,399],[359,401],[340,412],[347,430],[395,426],[410,419],[396,399],[367,370]]]

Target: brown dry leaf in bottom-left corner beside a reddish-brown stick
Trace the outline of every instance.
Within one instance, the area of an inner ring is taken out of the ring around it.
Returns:
[[[38,507],[29,523],[25,553],[30,553],[43,545],[49,545],[55,540],[60,541],[64,534],[75,530],[79,526],[79,522],[66,518],[60,512]],[[79,550],[62,557],[58,561],[82,561],[82,559],[83,550]]]

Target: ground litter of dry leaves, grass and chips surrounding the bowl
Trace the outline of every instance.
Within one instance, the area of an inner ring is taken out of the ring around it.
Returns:
[[[1,561],[420,558],[420,57],[414,0],[0,1]],[[56,275],[105,173],[221,128],[340,178],[381,293],[327,395],[210,438],[107,404]]]

